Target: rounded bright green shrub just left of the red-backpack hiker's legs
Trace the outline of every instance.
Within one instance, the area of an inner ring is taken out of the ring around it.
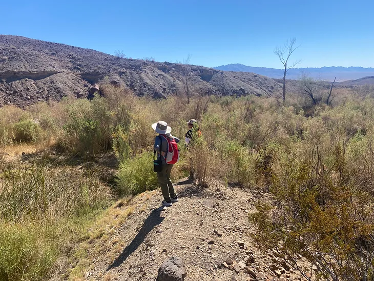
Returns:
[[[153,153],[143,152],[120,163],[117,191],[121,196],[135,195],[158,187],[153,171]]]

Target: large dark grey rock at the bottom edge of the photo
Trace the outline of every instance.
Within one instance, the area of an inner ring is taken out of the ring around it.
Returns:
[[[164,260],[158,269],[156,281],[183,281],[187,276],[183,260],[172,256]]]

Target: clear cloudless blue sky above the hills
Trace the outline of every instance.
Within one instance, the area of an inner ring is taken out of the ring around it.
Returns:
[[[214,67],[281,68],[277,45],[296,37],[298,67],[374,67],[374,1],[7,1],[0,34],[132,58]]]

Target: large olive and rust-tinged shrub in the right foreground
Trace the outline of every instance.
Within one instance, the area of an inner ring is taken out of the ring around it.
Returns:
[[[307,279],[371,279],[373,197],[347,169],[349,154],[338,140],[331,143],[321,120],[309,123],[305,135],[304,143],[273,158],[275,206],[257,204],[251,215],[254,238]],[[361,141],[361,135],[352,140]],[[317,266],[318,273],[298,267],[297,255]]]

